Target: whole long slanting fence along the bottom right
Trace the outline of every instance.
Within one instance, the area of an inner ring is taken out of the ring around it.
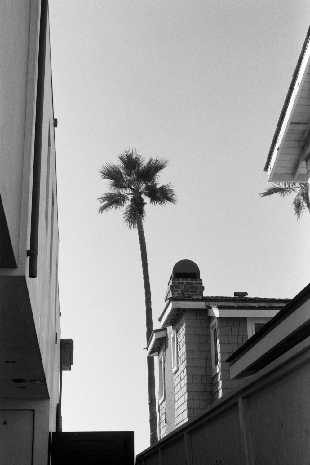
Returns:
[[[310,464],[307,344],[139,453],[136,465]]]

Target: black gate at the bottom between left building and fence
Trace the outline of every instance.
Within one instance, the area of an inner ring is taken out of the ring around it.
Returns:
[[[134,465],[133,431],[52,432],[50,465]]]

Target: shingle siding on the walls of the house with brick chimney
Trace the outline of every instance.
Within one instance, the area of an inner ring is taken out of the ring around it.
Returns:
[[[178,332],[178,371],[172,373],[171,334]],[[218,319],[218,372],[212,377],[211,332],[204,310],[182,312],[167,328],[165,399],[159,405],[159,438],[204,410],[243,380],[231,380],[225,361],[247,340],[246,318]]]

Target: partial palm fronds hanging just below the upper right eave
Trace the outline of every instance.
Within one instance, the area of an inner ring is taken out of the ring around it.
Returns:
[[[298,189],[298,191],[297,191]],[[297,219],[308,211],[310,213],[310,202],[307,182],[276,182],[272,184],[272,187],[265,189],[265,192],[261,192],[260,197],[266,197],[268,195],[280,194],[281,197],[287,197],[291,193],[297,195],[293,200],[293,207],[295,210],[295,216]]]

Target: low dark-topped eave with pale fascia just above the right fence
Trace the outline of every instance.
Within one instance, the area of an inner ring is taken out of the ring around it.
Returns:
[[[226,361],[231,379],[250,376],[310,336],[310,284]]]

